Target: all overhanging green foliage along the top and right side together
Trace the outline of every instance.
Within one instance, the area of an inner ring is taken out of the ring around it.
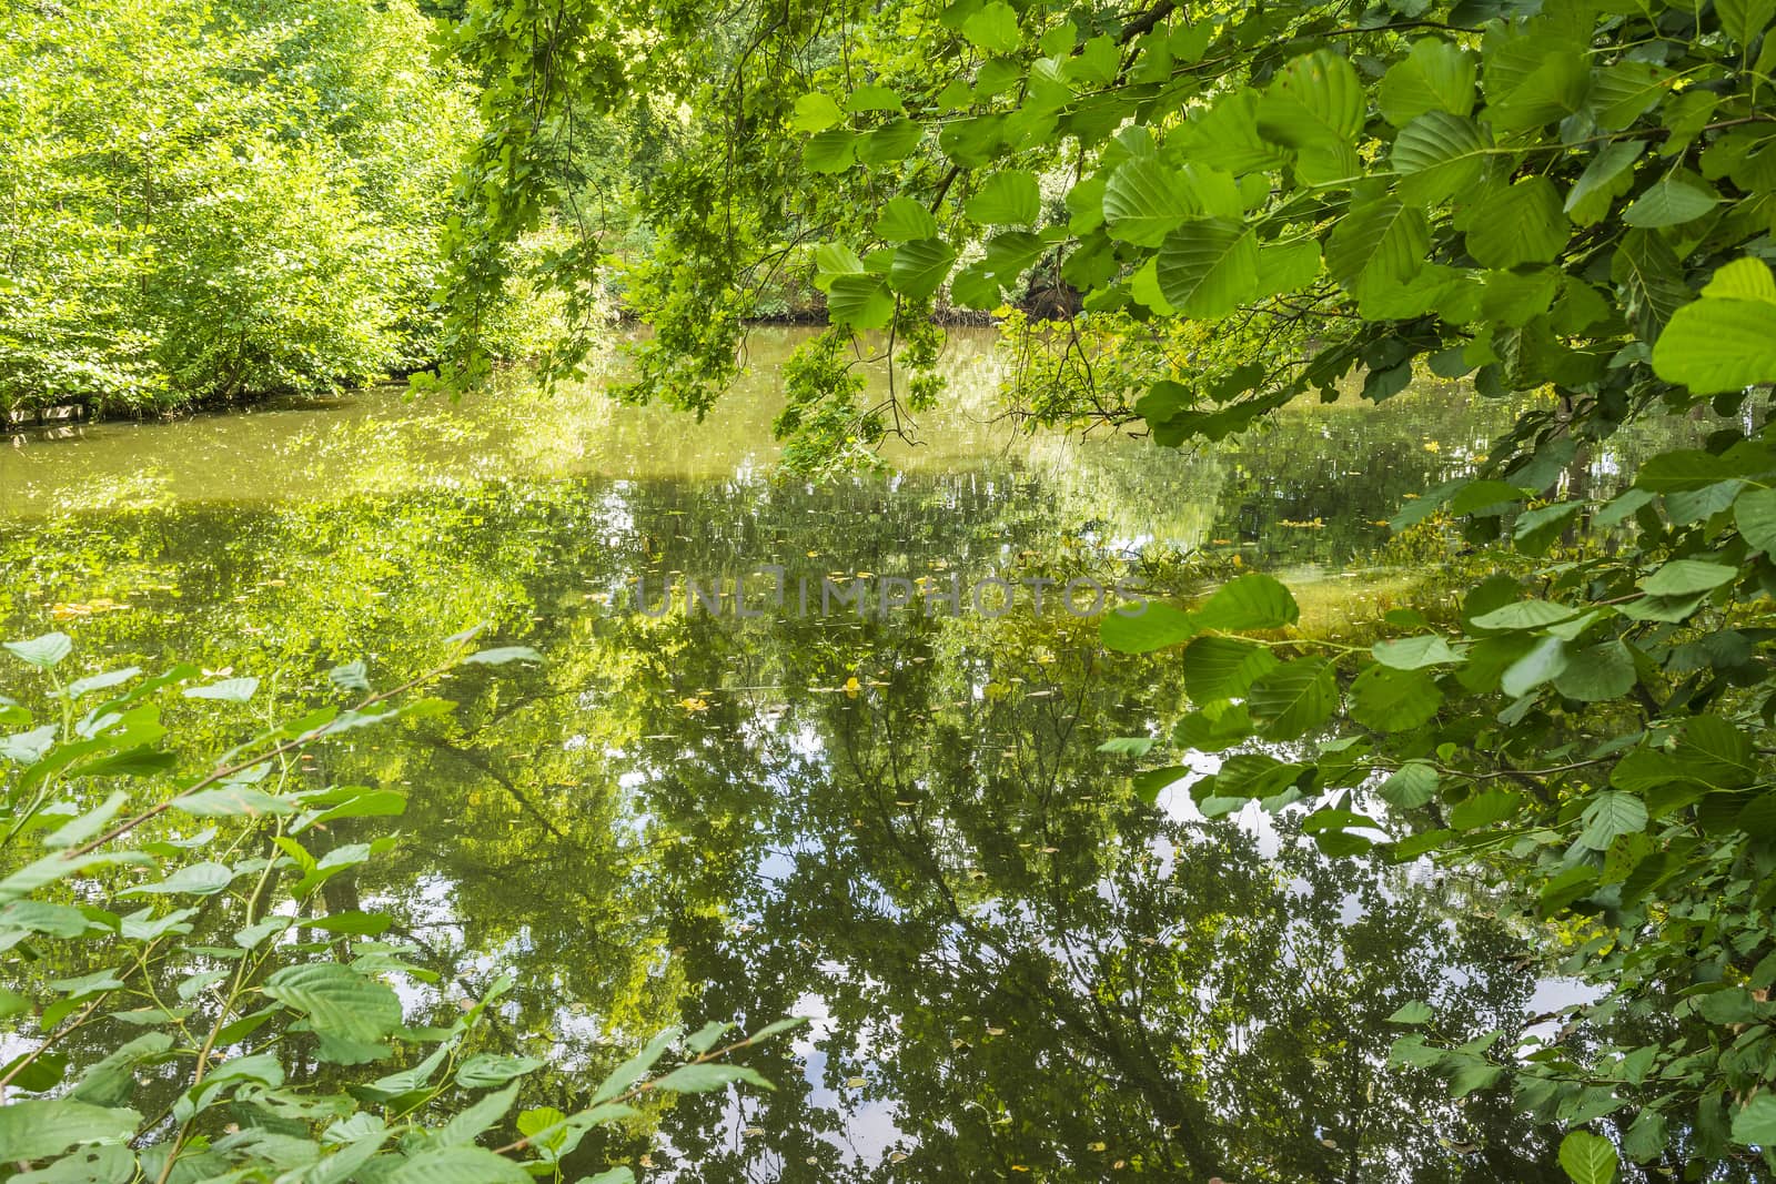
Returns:
[[[890,350],[945,291],[989,309],[1050,266],[1080,293],[1087,341],[1183,332],[1186,353],[1122,375],[1133,407],[1055,398],[1055,419],[1133,414],[1162,444],[1352,375],[1371,399],[1424,367],[1483,396],[1559,396],[1396,525],[1447,513],[1490,545],[1510,520],[1534,561],[1597,524],[1629,534],[1616,554],[1488,579],[1453,628],[1403,612],[1373,650],[1295,637],[1266,577],[1110,620],[1106,643],[1183,646],[1195,710],[1176,740],[1231,753],[1197,788],[1211,813],[1311,801],[1327,850],[1385,831],[1389,857],[1497,864],[1574,934],[1572,971],[1607,989],[1577,1017],[1645,1033],[1518,1051],[1440,1047],[1431,1028],[1401,1060],[1458,1093],[1510,1083],[1550,1122],[1602,1124],[1613,1141],[1575,1133],[1563,1156],[1575,1179],[1607,1179],[1616,1147],[1671,1173],[1769,1166],[1776,451],[1724,430],[1607,501],[1575,486],[1590,446],[1632,417],[1735,414],[1776,380],[1776,5],[758,4],[721,12],[732,32],[671,5],[648,32],[636,16],[481,0],[460,44],[490,67],[527,51],[616,71],[616,107],[684,105],[684,151],[648,197],[661,252],[634,289],[659,328],[643,394],[709,407],[748,277],[826,243],[833,332],[888,330]],[[567,55],[538,32],[572,21],[646,50]],[[599,94],[568,82],[490,103],[547,126]],[[522,137],[492,138],[478,167],[508,149],[504,183],[540,209],[549,181],[519,176],[538,160]],[[465,225],[465,241],[501,233]],[[1062,337],[1067,375],[1090,371],[1080,339]],[[851,362],[813,348],[787,426],[824,401],[826,438],[868,440],[881,417],[854,407]]]

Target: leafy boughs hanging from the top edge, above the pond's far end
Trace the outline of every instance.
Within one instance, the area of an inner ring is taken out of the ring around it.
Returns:
[[[1501,462],[1584,440],[1671,382],[1732,392],[1776,367],[1758,335],[1776,309],[1749,270],[1707,311],[1740,360],[1710,371],[1701,314],[1678,316],[1716,270],[1767,249],[1767,21],[1760,4],[1581,0],[1357,16],[760,4],[737,18],[480,0],[456,48],[494,78],[494,133],[464,172],[476,213],[451,240],[451,373],[485,366],[478,309],[504,280],[499,243],[572,195],[572,128],[591,110],[671,126],[646,140],[661,163],[639,213],[657,247],[622,268],[655,330],[638,396],[707,410],[733,375],[748,293],[806,266],[840,335],[884,330],[881,351],[915,382],[860,407],[856,355],[828,350],[781,428],[817,424],[828,453],[849,444],[812,414],[826,401],[867,444],[940,392],[934,302],[995,309],[1041,275],[1082,309],[1048,337],[1066,364],[1044,376],[1078,385],[1044,412],[1057,421],[1138,414],[1169,442],[1224,435],[1357,369],[1387,398],[1419,364],[1487,394],[1570,394]],[[625,37],[632,53],[614,48]],[[588,238],[551,275],[584,289],[597,263]],[[1213,330],[1177,343],[1146,398],[1106,403],[1082,346],[1098,323]]]

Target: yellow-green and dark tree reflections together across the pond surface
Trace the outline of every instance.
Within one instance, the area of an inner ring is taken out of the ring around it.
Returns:
[[[11,611],[165,577],[181,596],[76,621],[82,651],[250,669],[268,696],[314,694],[359,655],[417,669],[480,618],[543,650],[517,680],[456,678],[456,719],[304,770],[410,790],[403,847],[330,889],[392,898],[448,983],[517,973],[501,1038],[570,1054],[527,1104],[567,1106],[591,1077],[577,1063],[664,1022],[817,1003],[806,1070],[758,1051],[778,1093],[657,1117],[673,1152],[655,1157],[694,1179],[1099,1179],[1117,1161],[1229,1184],[1547,1179],[1502,1101],[1451,1106],[1382,1065],[1412,998],[1439,1001],[1442,1035],[1517,1022],[1527,985],[1495,925],[1449,886],[1169,820],[1106,770],[1101,740],[1169,726],[1176,667],[1103,666],[1066,616],[645,621],[591,598],[643,568],[757,559],[913,575],[1030,552],[1053,575],[1092,563],[1066,545],[1082,522],[1131,520],[1169,486],[1114,506],[1096,478],[1073,488],[563,481],[115,515],[41,533],[34,598]],[[194,747],[236,738],[202,726]]]

